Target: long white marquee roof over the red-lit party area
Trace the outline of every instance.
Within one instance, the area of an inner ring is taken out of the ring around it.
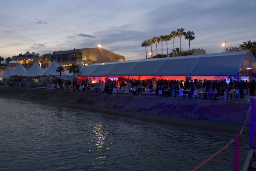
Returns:
[[[255,58],[250,50],[97,63],[84,68],[78,76],[252,76]]]

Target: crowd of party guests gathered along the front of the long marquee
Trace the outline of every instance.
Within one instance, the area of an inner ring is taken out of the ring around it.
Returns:
[[[163,80],[158,79],[155,81],[152,79],[119,79],[119,80],[99,80],[97,83],[92,83],[91,78],[82,80],[81,82],[77,82],[76,79],[73,81],[67,80],[63,82],[60,79],[52,80],[55,84],[55,88],[60,90],[68,89],[68,90],[78,90],[78,91],[87,91],[89,92],[92,87],[97,87],[101,92],[112,93],[113,90],[116,90],[118,94],[124,91],[125,89],[135,88],[132,91],[133,95],[139,95],[141,92],[144,92],[145,89],[151,89],[150,93],[159,94],[159,90],[161,90],[163,96],[173,97],[174,94],[177,94],[177,90],[187,90],[184,91],[184,94],[187,93],[186,97],[191,97],[193,95],[194,90],[199,90],[201,92],[209,92],[214,91],[214,97],[211,99],[216,99],[219,96],[224,96],[224,92],[230,92],[231,89],[236,90],[239,89],[240,99],[244,99],[244,90],[246,90],[246,94],[250,94],[255,96],[255,86],[256,83],[252,80],[250,83],[247,80],[233,81],[230,79],[229,83],[226,80]],[[59,85],[59,86],[57,86]],[[124,87],[124,88],[121,88]],[[249,91],[249,93],[248,93]]]

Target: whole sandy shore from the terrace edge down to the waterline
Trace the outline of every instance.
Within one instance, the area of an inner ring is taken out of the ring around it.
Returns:
[[[224,102],[153,96],[130,96],[60,91],[36,88],[0,87],[0,97],[57,104],[71,108],[123,116],[146,122],[239,133],[248,102]],[[245,134],[248,134],[246,126]]]

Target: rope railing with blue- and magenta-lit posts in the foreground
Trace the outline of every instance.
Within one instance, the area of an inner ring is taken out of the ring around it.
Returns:
[[[217,156],[220,152],[222,152],[224,149],[226,149],[229,145],[233,144],[235,142],[235,151],[234,151],[234,160],[233,160],[233,171],[239,171],[239,151],[240,151],[240,137],[243,134],[245,125],[248,121],[249,115],[251,113],[251,125],[250,125],[250,136],[249,136],[249,145],[254,146],[255,143],[255,99],[254,98],[250,98],[250,107],[248,112],[246,113],[246,119],[245,119],[245,123],[240,131],[239,134],[237,134],[237,136],[235,138],[233,138],[227,145],[225,145],[222,149],[220,149],[219,151],[217,151],[215,154],[213,154],[211,157],[209,157],[208,159],[206,159],[205,161],[203,161],[201,164],[199,164],[198,166],[196,166],[194,169],[192,169],[192,171],[199,169],[201,166],[203,166],[205,163],[209,162],[212,158],[214,158],[215,156]]]

